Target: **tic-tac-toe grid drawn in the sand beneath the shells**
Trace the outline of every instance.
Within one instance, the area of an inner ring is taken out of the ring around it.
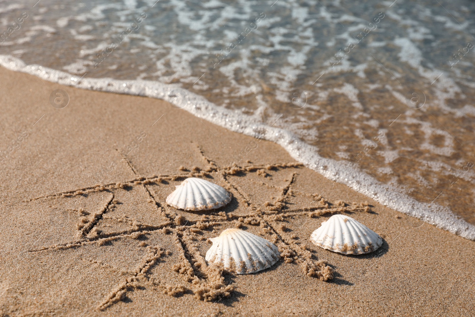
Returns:
[[[208,239],[228,228],[276,244],[281,260],[274,267],[294,263],[308,278],[333,279],[332,267],[318,259],[314,247],[296,232],[324,214],[368,212],[367,203],[332,203],[318,193],[304,192],[299,186],[301,163],[219,167],[199,151],[203,168],[180,166],[177,174],[147,177],[137,175],[127,162],[136,175],[132,180],[30,199],[57,211],[52,219],[60,234],[53,244],[40,241],[29,254],[51,252],[54,257],[54,252],[84,250],[82,260],[120,273],[122,282],[102,299],[99,310],[119,302],[126,305],[128,292],[143,289],[205,301],[231,296],[236,286],[228,284],[225,275],[236,272],[208,265],[204,259],[211,246]],[[168,206],[166,197],[188,177],[223,186],[232,194],[231,202],[210,211]]]

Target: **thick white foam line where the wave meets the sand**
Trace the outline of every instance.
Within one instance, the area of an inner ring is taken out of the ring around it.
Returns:
[[[36,75],[61,85],[73,86],[71,83],[72,75],[68,73],[38,65],[27,66],[18,58],[10,55],[0,55],[0,65],[10,70]],[[81,83],[76,83],[74,86],[90,90],[149,96],[167,101],[170,101],[167,96],[171,90],[182,89],[176,84],[165,85],[156,81],[117,80],[112,78],[84,78]],[[161,93],[163,93],[163,96],[161,96]],[[463,238],[475,240],[475,226],[457,217],[448,208],[437,204],[418,202],[400,192],[399,188],[377,183],[369,174],[347,168],[348,162],[346,161],[335,161],[321,157],[316,147],[304,143],[289,131],[256,122],[250,116],[237,114],[233,110],[216,106],[203,96],[192,92],[187,92],[187,94],[189,102],[183,109],[189,113],[234,132],[253,137],[264,134],[264,139],[281,145],[295,160],[304,163],[305,166],[326,178],[345,184],[356,192],[360,192],[396,211],[417,217]]]

